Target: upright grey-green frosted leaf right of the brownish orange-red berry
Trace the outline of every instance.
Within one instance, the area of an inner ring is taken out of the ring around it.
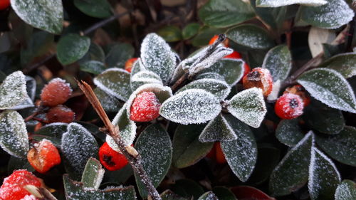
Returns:
[[[263,60],[262,68],[267,68],[271,72],[273,81],[285,80],[292,68],[292,56],[288,46],[271,48]]]

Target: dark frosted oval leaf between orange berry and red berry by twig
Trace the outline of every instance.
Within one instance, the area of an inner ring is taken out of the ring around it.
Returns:
[[[85,163],[90,157],[98,156],[98,143],[82,125],[70,123],[62,136],[61,151],[70,177],[79,179]]]

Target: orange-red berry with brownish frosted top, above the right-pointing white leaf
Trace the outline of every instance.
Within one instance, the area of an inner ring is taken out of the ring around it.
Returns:
[[[263,96],[268,96],[272,92],[273,80],[271,73],[266,68],[254,68],[242,79],[244,89],[261,88]]]

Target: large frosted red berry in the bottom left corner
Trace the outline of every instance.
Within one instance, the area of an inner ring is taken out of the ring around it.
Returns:
[[[23,188],[26,185],[40,187],[41,181],[25,169],[14,171],[14,173],[4,179],[4,183],[0,188],[0,199],[20,200],[26,195],[31,196],[31,193]]]

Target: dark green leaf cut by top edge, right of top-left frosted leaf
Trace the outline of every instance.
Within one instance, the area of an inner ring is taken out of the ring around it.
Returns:
[[[88,16],[107,18],[112,15],[112,8],[106,0],[74,0],[74,6]]]

